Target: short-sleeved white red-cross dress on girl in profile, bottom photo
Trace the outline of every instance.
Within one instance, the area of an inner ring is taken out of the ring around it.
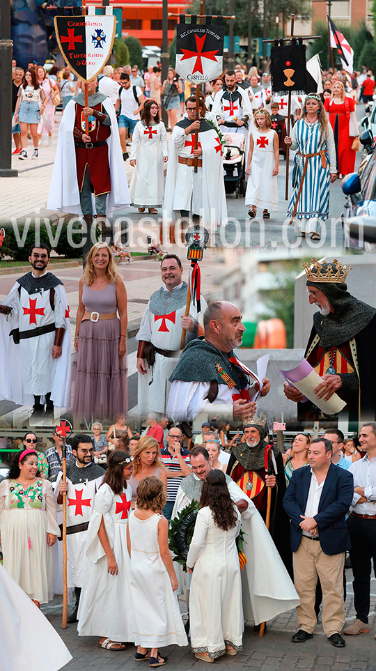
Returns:
[[[133,641],[130,607],[130,557],[127,550],[127,522],[132,490],[114,494],[107,483],[95,495],[87,532],[86,564],[77,626],[79,636],[106,636],[116,642]],[[104,528],[118,564],[118,575],[107,571],[107,557],[98,530]]]

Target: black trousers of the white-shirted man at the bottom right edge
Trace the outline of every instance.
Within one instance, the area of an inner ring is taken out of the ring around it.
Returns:
[[[352,550],[350,559],[354,580],[354,606],[357,618],[368,624],[370,612],[370,576],[376,578],[376,520],[364,520],[350,515],[347,519]]]

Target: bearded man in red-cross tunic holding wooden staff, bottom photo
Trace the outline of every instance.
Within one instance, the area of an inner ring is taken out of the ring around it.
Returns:
[[[63,492],[67,492],[67,579],[68,588],[75,587],[76,603],[67,622],[77,622],[77,610],[84,580],[86,562],[86,537],[93,512],[95,494],[102,484],[104,470],[94,463],[94,447],[90,435],[77,433],[70,441],[73,456],[67,466],[67,481],[60,472],[56,479],[55,494],[59,506]],[[62,509],[62,508],[61,508]]]

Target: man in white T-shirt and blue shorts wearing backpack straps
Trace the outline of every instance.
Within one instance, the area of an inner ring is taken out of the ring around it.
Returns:
[[[143,108],[145,98],[139,86],[132,86],[130,75],[123,72],[120,75],[120,86],[118,90],[118,100],[116,100],[115,109],[120,107],[119,116],[119,135],[121,148],[123,149],[123,158],[127,158],[127,128],[129,129],[130,139],[134,131],[134,126],[140,120],[140,112]]]

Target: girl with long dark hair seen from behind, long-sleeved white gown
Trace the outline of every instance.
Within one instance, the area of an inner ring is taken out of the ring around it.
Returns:
[[[236,538],[240,513],[230,499],[221,470],[204,481],[194,535],[187,556],[192,573],[189,596],[191,646],[195,656],[213,662],[242,649],[244,618]]]

